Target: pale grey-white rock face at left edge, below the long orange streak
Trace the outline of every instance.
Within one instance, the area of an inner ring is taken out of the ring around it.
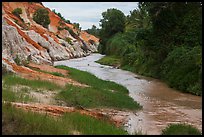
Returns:
[[[2,57],[11,63],[19,58],[20,62],[26,61],[31,56],[35,63],[52,64],[51,58],[45,50],[38,50],[22,37],[17,29],[4,23],[2,25]]]

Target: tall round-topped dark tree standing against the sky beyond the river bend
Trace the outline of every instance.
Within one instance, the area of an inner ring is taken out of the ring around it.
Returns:
[[[99,33],[100,43],[102,44],[102,54],[105,53],[107,40],[118,32],[123,32],[125,28],[125,15],[118,9],[107,9],[102,13],[103,18],[100,20],[101,31]]]

